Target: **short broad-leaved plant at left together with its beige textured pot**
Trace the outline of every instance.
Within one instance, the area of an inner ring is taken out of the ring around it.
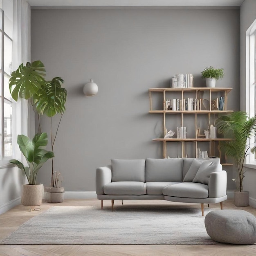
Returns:
[[[17,143],[28,164],[24,166],[17,159],[9,161],[16,164],[27,177],[28,184],[23,185],[21,203],[25,206],[39,206],[42,204],[44,187],[36,183],[36,176],[43,164],[54,157],[54,153],[45,150],[48,143],[46,132],[37,133],[32,140],[25,135],[18,135]]]

